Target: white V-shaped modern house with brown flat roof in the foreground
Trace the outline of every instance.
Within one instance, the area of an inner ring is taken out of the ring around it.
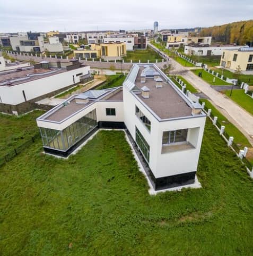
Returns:
[[[127,129],[155,190],[195,182],[206,115],[155,64],[123,87],[73,95],[37,119],[45,152],[68,156],[97,128]]]

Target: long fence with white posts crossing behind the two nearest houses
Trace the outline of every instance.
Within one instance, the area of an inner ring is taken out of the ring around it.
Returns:
[[[24,52],[13,52],[13,51],[6,51],[6,50],[3,50],[3,49],[0,49],[0,52],[5,52],[7,53],[8,55],[11,55],[12,57],[14,57],[14,59],[18,59],[18,56],[30,56],[30,57],[39,57],[39,58],[47,58],[47,59],[50,59],[50,60],[55,60],[55,59],[60,59],[60,60],[68,60],[68,56],[64,57],[64,56],[57,56],[57,55],[49,55],[49,56],[46,56],[45,54],[41,54],[41,53],[24,53]],[[161,63],[161,62],[164,62],[164,59],[167,60],[169,59],[167,55],[165,54],[159,54],[163,59],[156,59],[156,60],[147,60],[147,61],[143,61],[143,60],[130,60],[129,61],[124,61],[124,60],[103,60],[101,58],[85,58],[85,59],[81,59],[80,57],[78,58],[79,61],[83,60],[83,61],[92,61],[92,62],[112,62],[112,63]]]

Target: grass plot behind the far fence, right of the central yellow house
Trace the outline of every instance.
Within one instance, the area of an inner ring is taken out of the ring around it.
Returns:
[[[124,57],[124,60],[126,62],[130,62],[130,60],[133,60],[133,62],[138,62],[139,60],[141,62],[147,62],[147,60],[150,60],[150,62],[155,62],[155,60],[161,62],[162,58],[158,53],[147,47],[147,49],[143,50],[127,51],[127,56]]]

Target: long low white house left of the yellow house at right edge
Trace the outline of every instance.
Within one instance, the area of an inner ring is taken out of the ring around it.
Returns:
[[[185,46],[185,54],[187,55],[197,55],[197,56],[221,56],[222,52],[225,49],[239,49],[242,46],[234,46],[234,45],[219,45],[219,46],[210,46],[203,44],[196,45],[186,45]]]

